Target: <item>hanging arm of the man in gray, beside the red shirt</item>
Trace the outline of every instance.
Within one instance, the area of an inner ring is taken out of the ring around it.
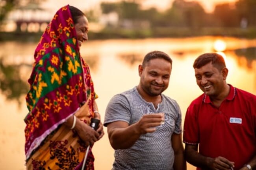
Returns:
[[[174,151],[174,170],[186,170],[186,161],[184,158],[184,148],[182,144],[182,135],[173,133],[172,135],[172,146]]]

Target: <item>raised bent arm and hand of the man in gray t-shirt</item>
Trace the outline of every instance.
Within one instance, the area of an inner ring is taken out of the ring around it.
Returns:
[[[159,126],[163,119],[163,114],[155,113],[143,115],[138,122],[130,126],[124,121],[111,122],[107,125],[109,142],[114,149],[130,148],[141,134],[155,132],[156,126]]]

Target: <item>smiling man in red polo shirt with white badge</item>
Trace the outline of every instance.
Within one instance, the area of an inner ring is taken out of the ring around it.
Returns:
[[[256,95],[226,83],[228,69],[217,53],[200,55],[193,67],[204,94],[187,109],[187,162],[197,170],[256,169]]]

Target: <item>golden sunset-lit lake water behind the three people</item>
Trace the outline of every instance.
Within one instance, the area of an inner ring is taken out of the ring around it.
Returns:
[[[216,44],[216,40],[222,43]],[[23,119],[28,110],[24,97],[36,45],[0,43],[0,165],[3,170],[25,170]],[[229,69],[227,82],[256,94],[256,39],[195,37],[85,42],[81,55],[91,68],[102,120],[110,98],[139,83],[138,65],[144,55],[160,50],[173,59],[170,84],[164,94],[180,104],[184,121],[187,106],[202,93],[195,81],[193,62],[202,53],[214,52],[214,47],[224,50]],[[104,130],[104,137],[93,148],[96,170],[110,170],[113,163],[114,151]],[[195,167],[188,165],[188,169]]]

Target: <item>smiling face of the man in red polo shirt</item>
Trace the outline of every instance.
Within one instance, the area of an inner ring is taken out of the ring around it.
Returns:
[[[208,63],[201,68],[195,68],[197,85],[206,95],[217,97],[221,94],[227,76],[227,69],[221,71]]]

